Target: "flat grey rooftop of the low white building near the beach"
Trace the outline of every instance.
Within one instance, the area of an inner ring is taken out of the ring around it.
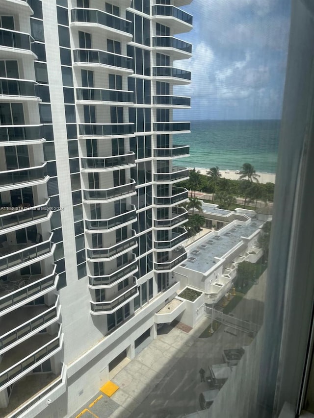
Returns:
[[[235,222],[230,223],[229,228],[225,227],[224,231],[210,232],[186,247],[189,256],[181,267],[205,273],[214,266],[215,257],[223,257],[241,241],[241,237],[250,237],[264,223],[258,220],[247,224]]]

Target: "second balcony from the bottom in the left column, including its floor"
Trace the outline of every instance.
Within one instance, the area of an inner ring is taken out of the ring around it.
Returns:
[[[0,389],[15,383],[22,376],[57,353],[62,346],[61,325],[57,334],[37,334],[6,353],[0,363]]]

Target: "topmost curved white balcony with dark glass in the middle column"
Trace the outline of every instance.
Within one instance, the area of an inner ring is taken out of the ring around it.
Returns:
[[[114,34],[115,39],[126,39],[127,41],[132,39],[131,34],[131,22],[122,19],[119,16],[111,15],[98,9],[83,9],[75,8],[71,9],[71,22],[76,26],[82,26],[85,30],[88,27],[89,30],[92,26],[102,29],[100,33],[104,35],[104,30],[108,32],[108,36]],[[83,24],[83,25],[80,25]]]

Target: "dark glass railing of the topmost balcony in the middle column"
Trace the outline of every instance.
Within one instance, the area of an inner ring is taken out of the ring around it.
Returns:
[[[96,9],[72,9],[71,22],[95,23],[131,34],[131,22]]]

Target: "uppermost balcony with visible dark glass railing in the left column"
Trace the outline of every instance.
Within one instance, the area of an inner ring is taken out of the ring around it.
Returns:
[[[32,42],[34,40],[28,33],[0,28],[0,50],[5,54],[3,58],[18,58],[21,53],[35,57],[30,47]]]

